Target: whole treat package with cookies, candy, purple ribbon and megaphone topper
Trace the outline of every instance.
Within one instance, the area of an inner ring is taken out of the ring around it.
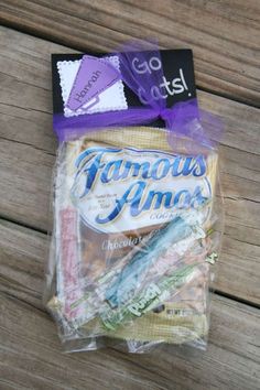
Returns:
[[[54,61],[63,112],[45,304],[68,351],[107,339],[131,353],[206,347],[220,124],[188,94],[169,107],[162,53]],[[188,90],[178,75],[175,95]]]

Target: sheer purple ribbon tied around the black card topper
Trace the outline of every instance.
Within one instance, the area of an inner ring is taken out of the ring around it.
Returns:
[[[160,51],[140,51],[138,47],[137,52],[137,46],[128,46],[129,48],[130,52],[117,54],[120,59],[121,79],[145,106],[69,118],[62,113],[54,115],[53,127],[59,142],[79,138],[96,129],[148,124],[161,118],[170,134],[176,138],[185,137],[212,148],[213,140],[219,139],[221,128],[219,121],[209,113],[205,116],[205,111],[203,113],[198,109],[196,99],[177,102],[172,108],[166,108],[165,90],[160,87],[163,77]],[[134,67],[139,72],[134,72]],[[207,133],[202,126],[203,117],[206,118],[204,121]]]

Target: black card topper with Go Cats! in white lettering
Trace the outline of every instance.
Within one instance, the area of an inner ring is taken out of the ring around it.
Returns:
[[[172,107],[175,102],[185,101],[196,97],[192,51],[162,50],[160,51],[160,53],[162,61],[161,65],[163,68],[163,78],[161,80],[160,86],[154,86],[154,89],[152,91],[154,94],[154,97],[156,97],[156,94],[163,91],[163,96],[166,100],[167,107]],[[106,55],[104,53],[88,52],[87,54],[95,55],[97,57],[113,56],[113,54]],[[67,97],[65,90],[63,89],[69,89],[69,85],[72,85],[73,79],[75,79],[76,77],[77,67],[79,66],[79,59],[82,59],[83,56],[84,54],[52,55],[54,113],[65,112],[65,116],[67,116],[65,109]],[[64,64],[66,65],[66,72],[63,72]],[[142,72],[152,71],[153,68],[156,68],[158,66],[160,66],[160,64],[156,63],[156,58],[153,58],[152,61],[143,63],[136,61],[133,63],[133,66],[136,72],[139,72],[141,74]],[[67,69],[71,69],[72,72],[67,72]],[[115,94],[117,94],[117,91]],[[128,86],[123,85],[121,94],[123,94],[123,100],[126,102],[124,108],[140,107],[143,105],[142,97],[138,97]],[[85,113],[88,113],[88,111],[86,111]],[[73,115],[74,112],[69,111],[68,116]],[[75,112],[75,115],[78,115],[78,112]],[[152,124],[163,126],[163,122],[161,120],[156,120]]]

